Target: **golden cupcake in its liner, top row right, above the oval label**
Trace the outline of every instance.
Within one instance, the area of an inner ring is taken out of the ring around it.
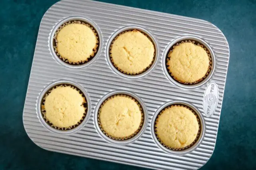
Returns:
[[[167,65],[171,76],[180,83],[198,83],[210,71],[210,55],[202,46],[186,41],[173,47]]]

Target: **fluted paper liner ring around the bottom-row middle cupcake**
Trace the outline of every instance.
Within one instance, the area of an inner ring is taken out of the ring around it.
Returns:
[[[138,103],[138,101],[137,101],[136,99],[134,99],[133,97],[129,96],[129,95],[118,94],[118,95],[110,96],[110,97],[108,97],[108,99],[106,99],[106,100],[101,104],[101,106],[100,106],[100,109],[99,109],[98,115],[97,115],[97,117],[98,117],[98,125],[99,125],[99,127],[100,127],[100,130],[101,130],[104,134],[106,134],[106,136],[108,136],[109,138],[112,138],[112,139],[115,139],[115,140],[126,140],[126,139],[129,139],[129,138],[132,138],[134,135],[136,135],[136,134],[140,131],[140,129],[141,129],[141,127],[142,127],[142,124],[143,124],[143,121],[144,121],[144,116],[143,116],[144,114],[142,113],[142,108],[140,107],[140,113],[141,113],[140,126],[139,126],[139,128],[138,128],[133,134],[131,134],[130,136],[126,136],[126,137],[124,137],[124,138],[117,138],[117,137],[111,136],[110,134],[108,134],[107,132],[105,132],[105,130],[103,129],[103,127],[102,127],[102,125],[101,125],[101,123],[100,123],[100,111],[101,111],[102,106],[103,106],[108,100],[113,99],[114,97],[117,97],[117,96],[130,98],[130,99],[132,99],[133,101],[135,101],[136,104],[140,107],[140,104]]]

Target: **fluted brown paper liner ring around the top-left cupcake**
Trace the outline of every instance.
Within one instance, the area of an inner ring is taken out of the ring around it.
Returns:
[[[62,28],[64,28],[65,26],[67,26],[67,25],[69,25],[69,24],[83,24],[83,25],[89,27],[89,28],[94,32],[94,35],[95,35],[96,38],[97,38],[97,42],[96,42],[96,45],[95,45],[95,47],[94,47],[94,49],[93,49],[93,52],[92,52],[92,54],[91,54],[86,60],[81,60],[81,61],[77,61],[77,62],[72,62],[72,61],[68,61],[68,59],[65,59],[64,57],[62,57],[62,56],[60,55],[60,53],[58,53],[58,50],[57,50],[57,46],[58,46],[57,35],[58,35],[58,33],[60,32],[60,30],[61,30]],[[54,45],[53,47],[54,47],[54,51],[55,51],[56,55],[57,55],[60,59],[62,59],[63,61],[65,61],[65,62],[67,62],[67,63],[70,63],[70,64],[72,64],[72,65],[79,65],[79,64],[81,64],[81,63],[86,63],[86,62],[88,62],[92,57],[94,57],[95,53],[98,51],[98,43],[99,43],[99,41],[98,41],[97,32],[94,30],[94,28],[93,28],[90,24],[87,24],[87,23],[85,23],[85,22],[76,21],[76,20],[74,20],[74,21],[69,21],[69,22],[65,22],[64,24],[62,24],[62,26],[60,26],[60,28],[58,28],[58,29],[56,30],[53,39],[54,39],[54,43],[55,43],[55,45]]]

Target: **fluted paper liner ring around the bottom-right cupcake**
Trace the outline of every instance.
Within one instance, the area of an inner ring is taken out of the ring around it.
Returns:
[[[164,142],[162,142],[161,139],[160,139],[160,138],[158,137],[158,135],[157,135],[156,122],[158,121],[159,116],[162,115],[162,113],[163,113],[164,110],[169,109],[169,108],[174,107],[174,106],[185,107],[185,108],[189,109],[190,111],[192,111],[192,113],[194,113],[194,115],[196,116],[196,120],[197,120],[198,125],[199,125],[198,132],[197,132],[197,135],[196,135],[195,140],[194,140],[191,144],[189,144],[188,146],[186,146],[186,147],[184,147],[184,148],[173,148],[173,147],[170,147],[170,146],[164,144]],[[200,123],[200,120],[198,119],[198,115],[197,115],[190,107],[185,106],[185,105],[170,105],[170,106],[168,106],[168,107],[162,109],[162,111],[157,115],[156,121],[155,121],[155,123],[154,123],[156,138],[158,139],[158,141],[159,141],[163,146],[165,146],[166,148],[171,149],[171,150],[185,150],[185,149],[187,149],[187,148],[193,146],[193,144],[196,143],[196,141],[198,140],[198,136],[199,136],[200,133],[201,133],[201,128],[200,128],[200,126],[201,126],[201,123]]]

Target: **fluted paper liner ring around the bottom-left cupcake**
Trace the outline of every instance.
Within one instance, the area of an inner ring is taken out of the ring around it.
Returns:
[[[46,121],[46,123],[48,123],[48,124],[50,124],[50,126],[51,127],[54,127],[54,128],[56,128],[56,129],[58,129],[58,130],[70,130],[70,129],[72,129],[72,128],[75,128],[75,127],[77,127],[78,125],[80,125],[80,123],[84,120],[84,117],[86,116],[86,109],[87,109],[87,102],[86,102],[86,99],[85,99],[85,97],[84,97],[84,94],[81,94],[80,93],[80,90],[77,90],[81,95],[82,95],[82,97],[83,97],[83,99],[84,99],[84,101],[83,101],[83,103],[82,103],[82,105],[84,105],[84,115],[82,116],[82,119],[80,120],[80,121],[78,121],[78,123],[76,123],[76,125],[72,125],[72,126],[70,126],[70,127],[68,127],[68,128],[59,128],[59,127],[56,127],[55,125],[53,125],[47,118],[46,118],[46,110],[45,110],[45,107],[44,107],[44,103],[45,103],[45,99],[46,99],[46,97],[51,93],[51,91],[53,90],[53,89],[56,89],[57,87],[71,87],[72,89],[75,89],[76,90],[76,88],[77,87],[74,87],[74,86],[72,86],[72,85],[69,85],[69,84],[63,84],[63,85],[56,85],[56,86],[54,86],[52,89],[50,89],[49,91],[47,91],[46,93],[45,93],[45,96],[44,96],[44,98],[43,98],[43,101],[42,101],[42,105],[41,105],[41,113],[42,113],[42,115],[43,115],[43,118],[44,118],[44,121]]]

